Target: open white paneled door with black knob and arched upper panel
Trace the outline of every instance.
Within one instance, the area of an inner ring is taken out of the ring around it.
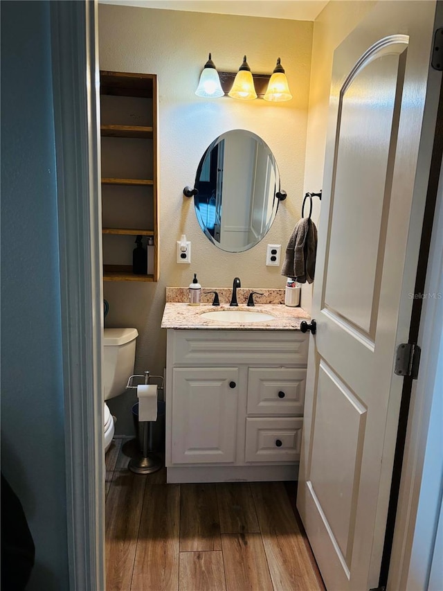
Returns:
[[[434,15],[434,2],[380,2],[334,53],[297,499],[328,591],[379,581],[404,381],[393,364],[433,141],[421,132],[435,125]]]

